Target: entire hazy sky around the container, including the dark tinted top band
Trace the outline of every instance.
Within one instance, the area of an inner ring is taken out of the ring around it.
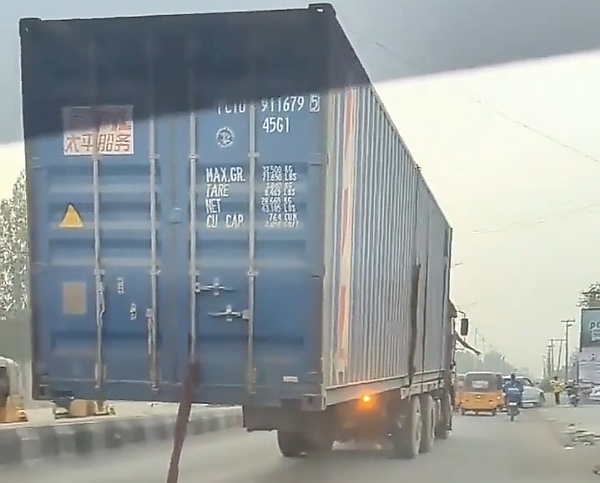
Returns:
[[[0,147],[0,197],[10,194],[24,163],[22,145],[8,142],[15,141],[21,129],[19,17],[306,3],[106,0],[85,6],[73,0],[26,0],[5,7],[13,10],[0,19],[0,27],[5,27],[0,29],[0,65],[6,66],[0,70],[5,93],[0,139],[7,140]],[[593,38],[589,34],[598,24],[593,19],[600,18],[600,9],[597,15],[586,15],[586,2],[575,1],[569,3],[569,12],[557,16],[559,2],[551,0],[543,2],[538,13],[523,10],[541,5],[537,1],[526,6],[499,0],[332,3],[454,227],[454,261],[459,264],[453,271],[455,302],[489,343],[513,362],[539,369],[548,338],[562,334],[560,319],[577,316],[578,291],[600,279],[600,53],[413,76],[478,65],[494,56],[531,57],[547,53],[543,49],[548,46],[555,52],[578,46],[589,51],[600,46],[600,33]],[[520,18],[529,20],[519,22]],[[537,34],[523,33],[531,31]],[[572,332],[576,334],[577,328]]]

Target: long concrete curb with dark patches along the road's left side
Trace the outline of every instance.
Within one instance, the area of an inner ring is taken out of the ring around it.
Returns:
[[[173,438],[175,415],[77,421],[54,426],[20,426],[0,430],[0,468],[63,457],[81,457],[123,446]],[[190,415],[188,435],[241,427],[239,408],[199,411]]]

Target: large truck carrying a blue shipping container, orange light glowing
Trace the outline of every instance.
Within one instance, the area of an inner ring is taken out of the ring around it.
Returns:
[[[193,363],[286,457],[448,436],[452,230],[331,5],[20,37],[34,398]]]

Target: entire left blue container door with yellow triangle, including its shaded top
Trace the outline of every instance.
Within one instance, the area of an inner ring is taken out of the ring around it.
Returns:
[[[189,122],[155,110],[169,52],[94,26],[21,23],[34,394],[176,400]]]

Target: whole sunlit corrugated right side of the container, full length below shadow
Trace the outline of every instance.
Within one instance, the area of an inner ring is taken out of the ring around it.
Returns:
[[[325,384],[341,390],[385,379],[406,382],[411,365],[421,380],[436,379],[450,334],[444,314],[451,229],[373,87],[337,92],[332,104]]]

